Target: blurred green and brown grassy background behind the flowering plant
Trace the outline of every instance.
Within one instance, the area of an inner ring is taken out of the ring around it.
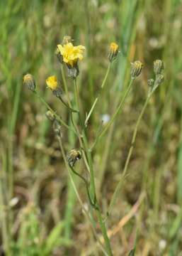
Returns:
[[[153,61],[164,60],[165,82],[140,123],[128,175],[107,224],[114,255],[127,255],[136,230],[136,255],[182,255],[181,13],[181,0],[0,1],[1,255],[4,250],[7,255],[102,255],[69,182],[46,109],[22,86],[23,75],[32,73],[42,96],[68,119],[45,86],[48,75],[61,80],[54,52],[64,35],[86,46],[78,81],[86,111],[106,73],[110,42],[120,45],[91,116],[90,143],[130,79],[130,62],[144,63],[123,112],[94,151],[103,213],[125,164]],[[67,151],[76,146],[72,133],[63,128],[62,134]],[[76,186],[86,203],[81,181]]]

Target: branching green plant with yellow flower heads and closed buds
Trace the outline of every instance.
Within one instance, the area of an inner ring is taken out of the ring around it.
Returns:
[[[55,137],[59,142],[62,158],[64,159],[64,164],[69,174],[69,178],[71,179],[72,186],[81,205],[81,210],[86,215],[86,218],[88,218],[89,220],[89,223],[93,230],[93,234],[95,235],[95,238],[98,242],[98,246],[100,247],[104,255],[110,256],[113,255],[114,248],[111,245],[110,235],[106,228],[108,226],[108,220],[110,217],[109,213],[110,210],[112,210],[113,208],[116,196],[118,196],[118,188],[120,188],[120,184],[123,181],[125,175],[127,174],[128,165],[130,163],[130,158],[132,156],[132,151],[135,145],[135,139],[137,137],[137,129],[140,125],[140,121],[144,114],[144,110],[146,109],[148,102],[152,97],[153,93],[155,92],[155,90],[157,89],[157,87],[159,87],[159,85],[161,85],[161,83],[164,81],[164,75],[162,74],[164,70],[164,63],[162,62],[162,60],[154,61],[154,78],[150,78],[147,82],[148,94],[142,107],[142,111],[140,112],[139,117],[137,118],[135,129],[133,131],[131,138],[131,146],[125,159],[125,166],[121,174],[120,181],[118,182],[115,191],[113,191],[113,197],[110,200],[110,205],[108,207],[108,216],[106,218],[106,216],[103,215],[101,201],[98,201],[97,197],[98,191],[96,191],[93,149],[96,147],[101,137],[103,137],[103,135],[106,134],[106,132],[108,132],[108,129],[113,125],[113,122],[115,122],[115,119],[118,117],[118,114],[123,110],[125,100],[132,90],[132,85],[134,81],[142,73],[143,64],[140,60],[135,60],[131,63],[130,82],[124,88],[124,90],[121,90],[119,92],[120,95],[118,97],[118,104],[115,105],[115,109],[113,110],[113,113],[109,121],[106,124],[102,124],[101,129],[99,129],[99,131],[96,132],[96,137],[94,138],[93,144],[90,144],[87,131],[89,125],[91,125],[89,123],[89,119],[91,117],[91,114],[94,113],[98,100],[100,100],[102,97],[101,92],[103,91],[103,88],[106,86],[108,75],[112,70],[113,61],[118,58],[120,52],[117,43],[110,43],[110,46],[108,47],[108,68],[106,70],[106,75],[103,78],[103,82],[101,83],[98,95],[96,99],[93,100],[90,109],[85,110],[83,113],[83,110],[81,111],[80,107],[81,98],[79,95],[79,86],[77,84],[76,78],[79,75],[79,61],[83,60],[85,50],[86,48],[84,46],[74,46],[72,43],[72,38],[70,36],[64,36],[62,44],[58,44],[56,50],[56,55],[61,65],[60,70],[62,73],[62,81],[58,81],[55,75],[51,75],[45,81],[47,87],[52,91],[53,96],[57,97],[62,102],[64,107],[66,107],[69,113],[69,123],[67,123],[62,118],[62,116],[58,114],[57,110],[53,110],[52,107],[50,107],[50,105],[44,100],[44,98],[40,96],[38,88],[35,86],[35,79],[33,78],[33,75],[25,75],[23,78],[23,84],[26,87],[28,87],[29,90],[34,92],[35,95],[37,95],[37,97],[40,99],[42,104],[45,105],[45,107],[47,108],[46,117],[50,119],[50,122],[52,122],[52,128],[55,132]],[[73,98],[70,97],[69,88],[67,87],[65,68],[67,70],[67,75],[69,76],[69,79],[71,79],[71,82],[73,83],[73,86],[71,88],[74,91]],[[71,132],[72,134],[74,134],[74,137],[76,138],[75,144],[79,145],[78,149],[65,149],[65,145],[62,140],[63,127],[69,130],[69,132]],[[76,168],[80,166],[76,165],[77,161],[82,162],[83,168]],[[82,169],[84,169],[84,172],[82,171]],[[86,196],[88,198],[89,208],[85,207],[84,202],[81,200],[81,197],[79,196],[79,191],[76,188],[74,175],[78,176],[81,179],[81,182],[83,182],[84,184]],[[102,236],[97,235],[97,223],[100,226]]]

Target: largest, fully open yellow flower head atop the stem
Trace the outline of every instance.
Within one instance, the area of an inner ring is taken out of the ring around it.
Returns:
[[[72,43],[66,43],[63,46],[58,45],[57,48],[63,57],[64,63],[67,63],[71,67],[77,64],[78,60],[82,60],[84,46],[73,46]]]

